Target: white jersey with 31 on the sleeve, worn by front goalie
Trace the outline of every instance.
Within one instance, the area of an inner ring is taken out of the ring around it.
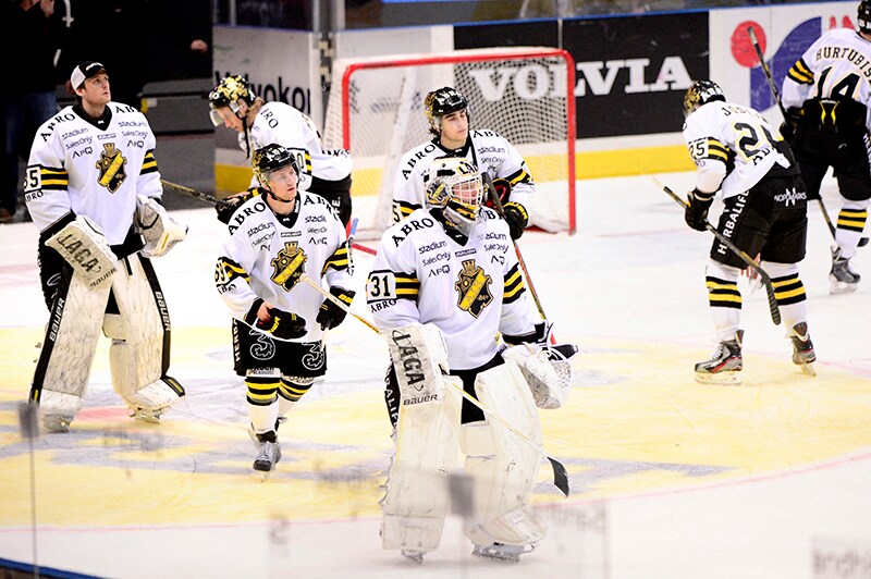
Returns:
[[[389,227],[366,283],[379,329],[434,323],[452,370],[478,368],[498,352],[499,332],[525,335],[541,317],[527,297],[508,225],[492,209],[466,245],[426,210]]]

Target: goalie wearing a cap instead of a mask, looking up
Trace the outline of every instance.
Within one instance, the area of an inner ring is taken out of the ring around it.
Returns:
[[[76,102],[37,131],[25,181],[50,310],[30,399],[52,432],[69,431],[82,407],[100,330],[133,418],[158,421],[185,393],[167,374],[170,318],[150,258],[187,227],[160,204],[155,135],[143,113],[111,101],[99,62],[70,81]]]

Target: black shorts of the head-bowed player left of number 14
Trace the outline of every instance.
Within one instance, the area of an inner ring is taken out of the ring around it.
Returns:
[[[765,177],[752,189],[725,200],[717,231],[748,256],[798,263],[805,258],[808,196],[800,177]],[[741,260],[714,238],[711,259],[744,269]]]

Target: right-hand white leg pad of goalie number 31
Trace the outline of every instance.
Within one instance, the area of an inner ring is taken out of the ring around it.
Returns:
[[[481,405],[516,433],[492,419],[463,426],[465,468],[475,482],[475,516],[466,523],[466,535],[478,545],[535,544],[547,534],[543,521],[528,506],[541,457],[517,435],[542,444],[529,386],[517,366],[503,364],[478,374],[475,391]]]

